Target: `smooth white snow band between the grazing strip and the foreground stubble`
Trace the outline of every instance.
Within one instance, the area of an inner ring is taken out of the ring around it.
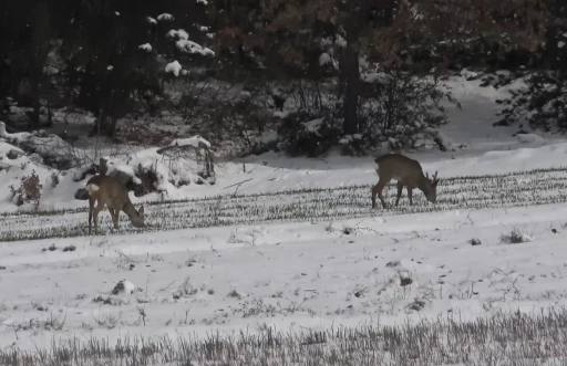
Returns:
[[[254,333],[259,323],[318,331],[378,317],[389,325],[453,312],[464,321],[564,306],[567,284],[553,275],[564,265],[564,238],[549,230],[560,228],[561,218],[565,207],[551,206],[56,241],[58,248],[74,244],[73,252],[42,252],[49,240],[4,243],[0,291],[10,323],[0,325],[1,342],[33,349],[49,346],[52,337],[94,336],[113,344],[124,334],[205,336],[247,327]],[[529,228],[533,241],[502,242],[499,236],[514,226]],[[471,238],[482,244],[471,245]],[[400,285],[404,276],[413,280],[408,286]],[[115,305],[93,303],[111,296],[118,279],[126,279],[130,291]],[[471,289],[475,294],[464,295]],[[228,296],[233,291],[239,296]],[[426,293],[435,296],[423,310],[408,309]],[[145,299],[146,326],[134,325]],[[293,306],[298,311],[285,311]],[[14,337],[13,324],[63,312],[64,332],[21,331]],[[101,320],[118,321],[109,328]]]

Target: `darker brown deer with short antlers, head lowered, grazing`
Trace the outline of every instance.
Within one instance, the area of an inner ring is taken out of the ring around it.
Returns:
[[[382,208],[385,207],[384,197],[382,191],[390,180],[398,180],[398,198],[395,206],[400,202],[402,197],[402,189],[405,186],[408,189],[408,198],[410,206],[413,205],[412,191],[419,188],[427,201],[435,203],[437,200],[437,172],[430,179],[429,174],[423,175],[423,169],[417,160],[411,159],[401,154],[385,154],[374,159],[377,165],[377,172],[380,177],[378,184],[372,188],[372,208],[377,207],[377,194],[382,202]]]

